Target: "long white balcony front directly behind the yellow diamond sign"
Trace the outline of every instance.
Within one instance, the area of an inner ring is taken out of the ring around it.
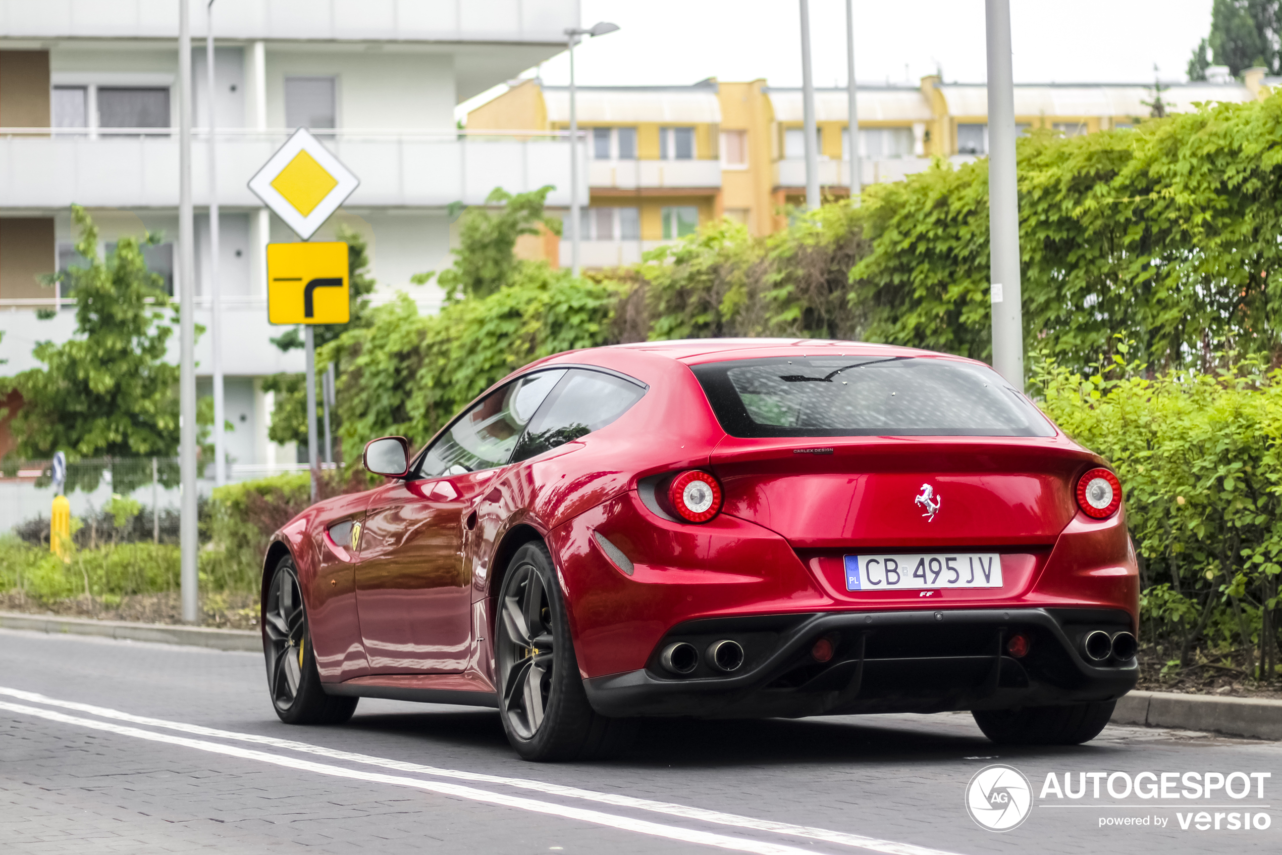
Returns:
[[[41,133],[44,136],[19,136]],[[178,205],[178,140],[173,128],[97,131],[0,128],[0,208]],[[286,131],[218,133],[218,201],[260,208],[246,182],[287,137]],[[324,137],[360,178],[351,206],[442,208],[485,204],[495,187],[555,190],[549,206],[568,206],[569,149],[555,135],[470,140],[462,132],[337,131]],[[209,203],[209,140],[192,142],[192,196]],[[587,194],[581,194],[587,203]]]

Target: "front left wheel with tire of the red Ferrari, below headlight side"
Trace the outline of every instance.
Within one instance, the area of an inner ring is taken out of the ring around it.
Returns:
[[[303,588],[294,559],[276,565],[263,604],[263,655],[267,691],[286,724],[342,724],[356,711],[359,697],[326,695],[320,687]]]

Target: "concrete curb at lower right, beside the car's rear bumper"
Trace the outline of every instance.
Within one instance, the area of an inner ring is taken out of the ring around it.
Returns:
[[[1118,700],[1110,724],[1144,724],[1210,731],[1251,740],[1282,740],[1282,701],[1176,692],[1129,692]]]

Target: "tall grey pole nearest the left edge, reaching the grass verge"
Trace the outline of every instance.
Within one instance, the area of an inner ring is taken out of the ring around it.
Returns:
[[[182,619],[200,618],[196,567],[196,255],[191,213],[191,5],[178,0],[178,467]]]

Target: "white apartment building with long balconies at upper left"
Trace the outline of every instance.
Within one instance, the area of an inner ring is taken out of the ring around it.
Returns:
[[[183,0],[0,0],[0,373],[36,365],[41,340],[74,331],[68,301],[36,277],[76,260],[69,206],[85,205],[100,253],[124,235],[163,232],[147,250],[173,285],[178,236],[178,9]],[[246,182],[297,127],[308,127],[360,179],[313,240],[338,224],[369,244],[376,301],[450,264],[451,210],[554,185],[569,205],[562,136],[469,138],[454,108],[564,49],[577,0],[215,0],[215,91],[206,81],[206,1],[190,1],[195,83],[196,322],[209,326],[209,105],[215,112],[221,205],[222,364],[233,473],[295,463],[267,438],[262,378],[303,370],[301,351],[268,340],[264,246],[296,240]],[[581,182],[586,186],[586,182]],[[586,194],[585,194],[586,201]],[[50,320],[37,309],[60,308]],[[177,360],[177,336],[173,342]],[[196,347],[208,394],[209,336]],[[3,455],[8,449],[0,449]],[[260,470],[260,469],[258,469]]]

